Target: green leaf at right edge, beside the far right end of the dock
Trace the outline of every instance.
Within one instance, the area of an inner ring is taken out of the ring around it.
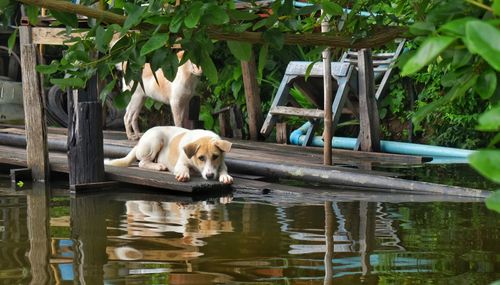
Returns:
[[[469,162],[481,175],[500,183],[500,150],[477,151],[469,156]]]

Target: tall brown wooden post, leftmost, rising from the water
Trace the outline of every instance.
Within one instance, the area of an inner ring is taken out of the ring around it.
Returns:
[[[26,152],[28,167],[35,181],[48,181],[49,154],[45,110],[40,94],[36,66],[36,47],[31,44],[31,28],[19,27],[21,43],[21,71],[23,80],[24,121],[26,125]]]

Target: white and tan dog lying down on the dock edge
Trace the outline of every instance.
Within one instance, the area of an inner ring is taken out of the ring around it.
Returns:
[[[144,133],[127,156],[107,160],[105,164],[126,167],[139,160],[139,167],[168,170],[180,182],[189,181],[193,169],[206,180],[218,178],[224,184],[231,184],[233,178],[224,162],[224,154],[231,150],[231,145],[212,131],[154,127]]]

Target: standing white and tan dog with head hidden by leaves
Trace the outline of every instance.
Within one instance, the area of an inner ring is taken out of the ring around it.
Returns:
[[[184,51],[177,53],[179,61],[181,61],[183,55]],[[153,75],[151,65],[146,63],[142,71],[142,82],[144,86],[138,86],[135,89],[127,105],[123,122],[129,140],[137,140],[141,136],[141,131],[139,129],[139,114],[144,106],[146,97],[151,97],[157,101],[170,105],[175,126],[182,127],[186,109],[189,106],[189,101],[195,94],[196,86],[202,74],[202,69],[188,60],[183,65],[179,66],[177,75],[172,82],[165,78],[161,69],[158,69],[155,74],[158,81],[156,81]],[[123,82],[124,90],[130,90],[133,85],[134,82],[130,82],[128,85]]]

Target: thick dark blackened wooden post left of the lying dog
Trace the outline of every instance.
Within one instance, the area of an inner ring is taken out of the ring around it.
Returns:
[[[68,164],[70,185],[104,181],[101,103],[97,101],[97,77],[88,92],[68,92]],[[72,95],[72,96],[71,96]]]

